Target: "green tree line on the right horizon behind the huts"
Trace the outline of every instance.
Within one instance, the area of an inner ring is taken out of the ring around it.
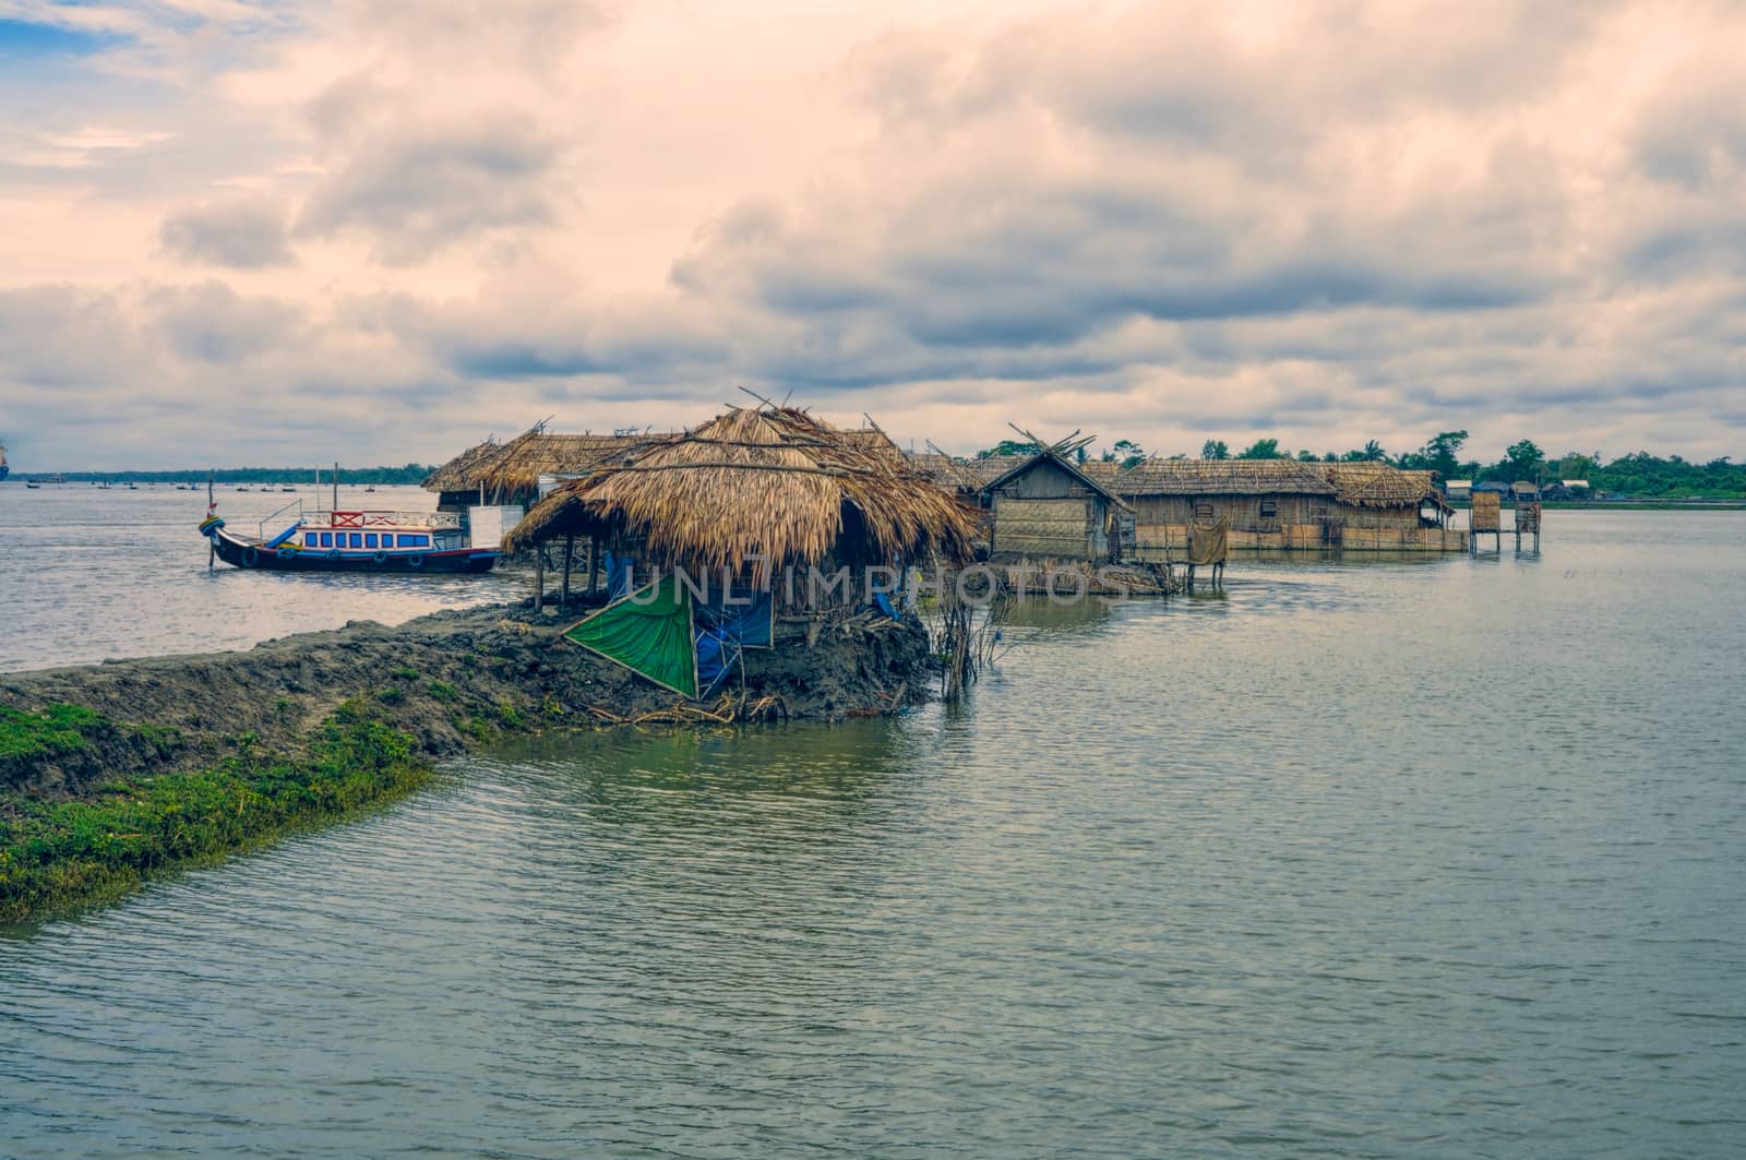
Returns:
[[[993,447],[976,452],[976,458],[995,454],[1032,454],[1035,444],[1002,440]],[[1734,463],[1732,456],[1692,463],[1680,456],[1655,456],[1648,451],[1636,451],[1617,459],[1606,459],[1599,451],[1568,451],[1561,456],[1549,456],[1531,438],[1510,444],[1503,456],[1495,461],[1463,458],[1467,451],[1467,432],[1439,432],[1425,440],[1425,445],[1413,451],[1390,454],[1374,438],[1362,447],[1337,452],[1315,451],[1292,452],[1280,447],[1278,438],[1257,438],[1241,451],[1231,451],[1222,438],[1208,438],[1201,444],[1201,459],[1297,459],[1299,463],[1388,463],[1409,472],[1435,472],[1439,480],[1470,479],[1474,482],[1514,484],[1528,480],[1533,484],[1554,484],[1564,479],[1587,480],[1594,493],[1643,496],[1643,498],[1709,498],[1732,500],[1746,498],[1746,463]],[[1079,452],[1081,461],[1091,458]],[[1147,458],[1147,452],[1130,438],[1117,438],[1105,451],[1095,456],[1103,463],[1133,466]],[[1165,456],[1168,459],[1187,459],[1187,454]]]

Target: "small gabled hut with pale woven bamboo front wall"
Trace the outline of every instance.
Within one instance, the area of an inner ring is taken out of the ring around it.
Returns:
[[[1112,561],[1128,512],[1060,447],[1044,447],[983,486],[993,512],[990,559]]]

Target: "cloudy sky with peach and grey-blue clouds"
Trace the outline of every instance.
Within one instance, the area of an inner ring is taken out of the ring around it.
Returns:
[[[0,0],[19,466],[443,459],[747,384],[1746,458],[1737,3]]]

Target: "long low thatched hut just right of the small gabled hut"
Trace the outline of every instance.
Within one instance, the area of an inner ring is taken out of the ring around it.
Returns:
[[[1296,459],[1145,459],[1117,475],[1114,491],[1133,507],[1142,561],[1180,557],[1193,526],[1220,521],[1233,549],[1320,543],[1336,493]]]

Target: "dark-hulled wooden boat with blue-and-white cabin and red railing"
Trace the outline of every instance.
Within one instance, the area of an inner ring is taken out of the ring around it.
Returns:
[[[297,507],[290,526],[278,526],[288,507]],[[304,512],[302,501],[279,508],[241,536],[208,510],[201,535],[211,540],[218,559],[237,568],[267,571],[403,571],[482,573],[503,552],[498,545],[473,547],[454,512]]]

